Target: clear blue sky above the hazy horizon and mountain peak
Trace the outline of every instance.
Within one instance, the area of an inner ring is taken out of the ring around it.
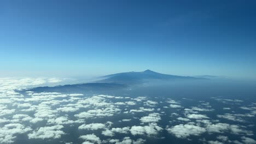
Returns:
[[[0,74],[256,78],[256,1],[0,1]]]

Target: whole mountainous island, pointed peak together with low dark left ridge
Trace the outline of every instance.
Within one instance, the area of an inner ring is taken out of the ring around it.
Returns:
[[[191,76],[177,76],[156,73],[152,70],[141,72],[127,72],[100,77],[101,80],[93,83],[83,83],[77,85],[63,85],[55,87],[36,87],[26,89],[25,91],[33,92],[101,92],[128,88],[131,85],[141,84],[144,82],[168,81],[168,80],[206,80],[205,78],[197,78]]]

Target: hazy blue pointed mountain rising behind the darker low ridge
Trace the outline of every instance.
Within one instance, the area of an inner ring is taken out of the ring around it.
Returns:
[[[200,80],[205,78],[191,77],[191,76],[177,76],[177,75],[167,75],[156,73],[152,70],[145,70],[141,72],[127,72],[127,73],[118,73],[112,75],[106,75],[101,77],[102,80],[97,82],[107,82],[107,83],[123,83],[123,84],[135,84],[140,82],[147,82],[150,80]]]

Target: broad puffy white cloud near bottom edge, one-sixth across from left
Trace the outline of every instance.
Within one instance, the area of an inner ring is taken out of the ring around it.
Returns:
[[[63,125],[54,125],[51,127],[40,127],[28,134],[28,139],[59,139],[65,133],[61,130]]]

